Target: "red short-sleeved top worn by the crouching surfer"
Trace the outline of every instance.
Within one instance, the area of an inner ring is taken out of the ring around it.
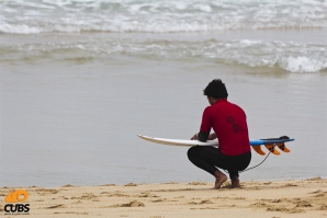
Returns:
[[[238,156],[251,150],[246,114],[226,99],[204,110],[200,130],[210,133],[211,128],[217,135],[222,153]]]

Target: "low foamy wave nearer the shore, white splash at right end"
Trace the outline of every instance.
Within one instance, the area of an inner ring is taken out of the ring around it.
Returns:
[[[57,41],[56,41],[57,42]],[[60,42],[60,41],[58,41]],[[210,61],[227,65],[243,65],[251,68],[280,68],[296,73],[313,73],[327,69],[326,44],[300,44],[293,42],[263,41],[146,41],[146,39],[86,39],[67,43],[34,43],[0,47],[10,50],[12,61],[22,56],[36,61],[59,55],[71,57],[93,57],[104,61],[115,56],[154,58],[160,60]],[[43,53],[50,54],[44,56]],[[58,54],[59,53],[59,54]],[[19,57],[18,57],[19,56]],[[0,56],[1,60],[9,57]]]

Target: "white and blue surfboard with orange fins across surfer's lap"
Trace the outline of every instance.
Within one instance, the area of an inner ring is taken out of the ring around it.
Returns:
[[[155,144],[168,145],[168,146],[183,146],[183,147],[192,147],[192,146],[214,146],[218,147],[218,140],[207,140],[206,142],[202,142],[199,140],[185,140],[185,139],[168,139],[168,138],[155,138],[144,135],[137,136],[144,140],[151,141]],[[272,152],[273,154],[279,156],[280,152],[275,149],[278,147],[280,150],[284,152],[290,152],[290,149],[285,147],[285,142],[293,141],[294,138],[289,138],[287,136],[282,136],[280,138],[268,138],[268,139],[255,139],[250,140],[250,146],[252,149],[261,154],[264,156],[266,153],[261,150],[261,145]]]

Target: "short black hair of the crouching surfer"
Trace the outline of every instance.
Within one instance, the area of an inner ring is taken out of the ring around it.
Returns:
[[[203,94],[214,99],[227,99],[228,96],[225,83],[223,83],[223,81],[219,79],[211,81],[203,90]]]

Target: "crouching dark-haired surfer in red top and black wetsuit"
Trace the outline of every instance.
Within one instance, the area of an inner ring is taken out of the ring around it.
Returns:
[[[203,91],[208,103],[202,116],[199,134],[191,140],[219,141],[219,147],[194,146],[189,149],[189,160],[215,176],[214,188],[219,188],[227,176],[219,169],[227,170],[230,187],[239,187],[238,171],[245,170],[251,161],[246,114],[238,105],[227,101],[227,90],[222,80],[213,80]],[[210,134],[213,128],[214,133]]]

